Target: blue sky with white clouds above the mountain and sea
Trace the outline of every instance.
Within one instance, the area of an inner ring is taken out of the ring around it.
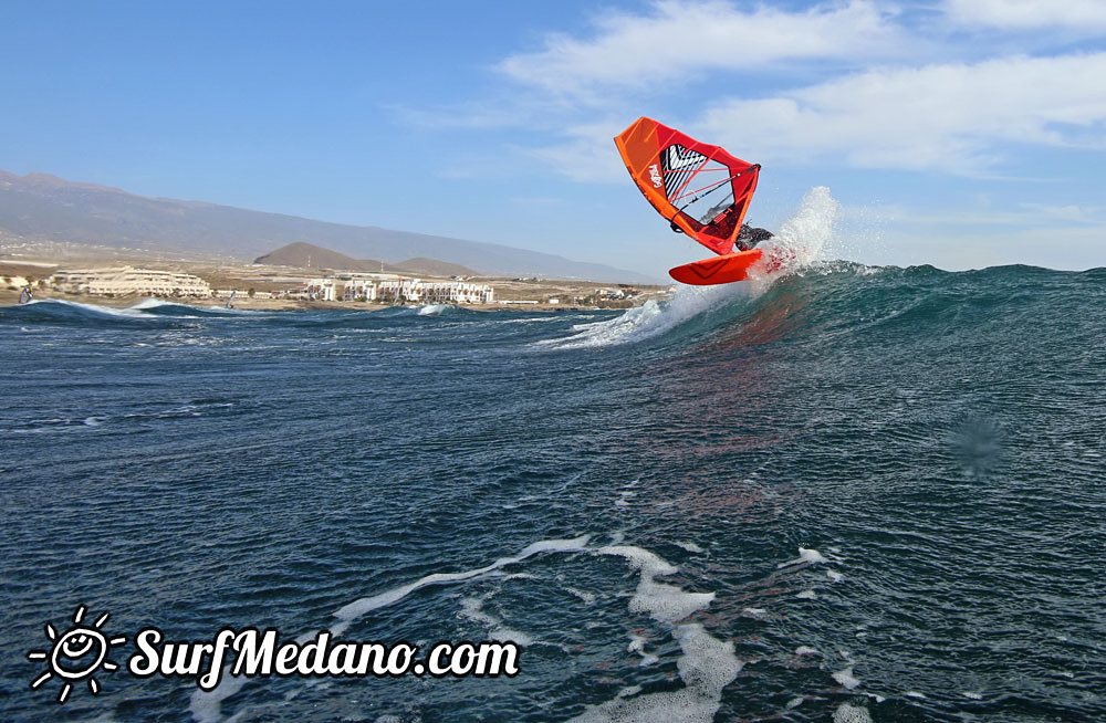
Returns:
[[[762,165],[748,220],[830,253],[1106,266],[1106,2],[0,0],[0,169],[503,243],[654,277],[612,138]]]

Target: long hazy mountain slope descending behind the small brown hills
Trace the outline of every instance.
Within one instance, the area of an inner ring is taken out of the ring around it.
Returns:
[[[386,264],[434,259],[484,275],[656,281],[633,271],[497,243],[146,198],[46,174],[0,171],[0,240],[13,247],[67,243],[243,261],[303,242],[353,259],[378,259]]]

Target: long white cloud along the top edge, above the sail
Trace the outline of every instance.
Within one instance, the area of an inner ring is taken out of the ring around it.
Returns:
[[[515,81],[571,95],[787,60],[855,63],[899,55],[907,44],[888,15],[864,0],[805,12],[768,6],[747,12],[720,0],[658,0],[650,14],[614,13],[595,24],[593,39],[551,35],[544,50],[508,57],[500,70]]]

